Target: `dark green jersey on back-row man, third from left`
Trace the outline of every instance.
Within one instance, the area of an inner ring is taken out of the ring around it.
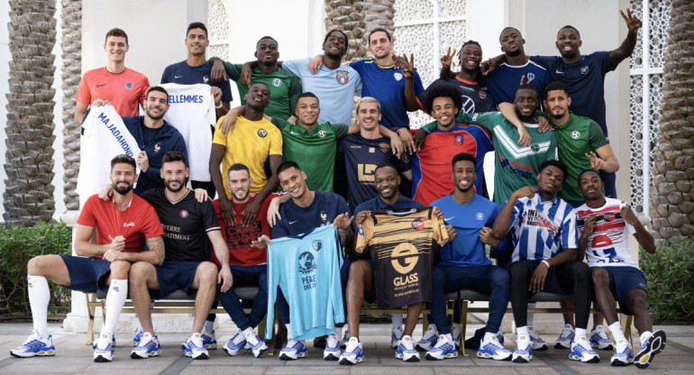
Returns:
[[[248,88],[241,82],[242,65],[232,64],[224,61],[226,74],[239,89],[241,104],[246,105],[246,94]],[[251,85],[254,83],[264,83],[269,87],[269,104],[265,108],[265,114],[270,117],[279,117],[287,120],[294,114],[297,99],[301,95],[301,81],[289,70],[278,68],[272,73],[263,73],[260,69],[253,69],[251,73]]]

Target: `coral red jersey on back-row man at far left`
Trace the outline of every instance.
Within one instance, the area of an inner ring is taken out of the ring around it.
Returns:
[[[138,105],[144,103],[148,88],[150,81],[142,73],[128,68],[122,73],[109,73],[104,67],[85,73],[75,99],[87,106],[96,99],[108,100],[121,117],[135,117],[140,115]]]

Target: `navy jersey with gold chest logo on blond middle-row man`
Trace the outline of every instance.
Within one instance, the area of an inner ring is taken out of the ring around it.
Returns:
[[[347,171],[350,209],[378,196],[374,187],[374,172],[379,164],[391,163],[404,172],[412,169],[409,155],[397,159],[388,138],[369,140],[361,134],[350,134],[342,139],[344,167]]]

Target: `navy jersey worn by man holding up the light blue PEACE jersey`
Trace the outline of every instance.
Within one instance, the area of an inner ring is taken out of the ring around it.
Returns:
[[[319,226],[333,224],[337,215],[350,212],[347,202],[337,194],[320,190],[314,192],[314,201],[307,207],[297,206],[292,199],[279,206],[282,219],[272,227],[272,238],[310,233]]]

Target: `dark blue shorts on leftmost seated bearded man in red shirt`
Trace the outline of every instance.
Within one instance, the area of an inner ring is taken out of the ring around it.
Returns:
[[[70,277],[70,285],[63,287],[85,293],[108,290],[106,279],[111,273],[110,261],[63,254],[60,254],[60,258],[68,267]]]

